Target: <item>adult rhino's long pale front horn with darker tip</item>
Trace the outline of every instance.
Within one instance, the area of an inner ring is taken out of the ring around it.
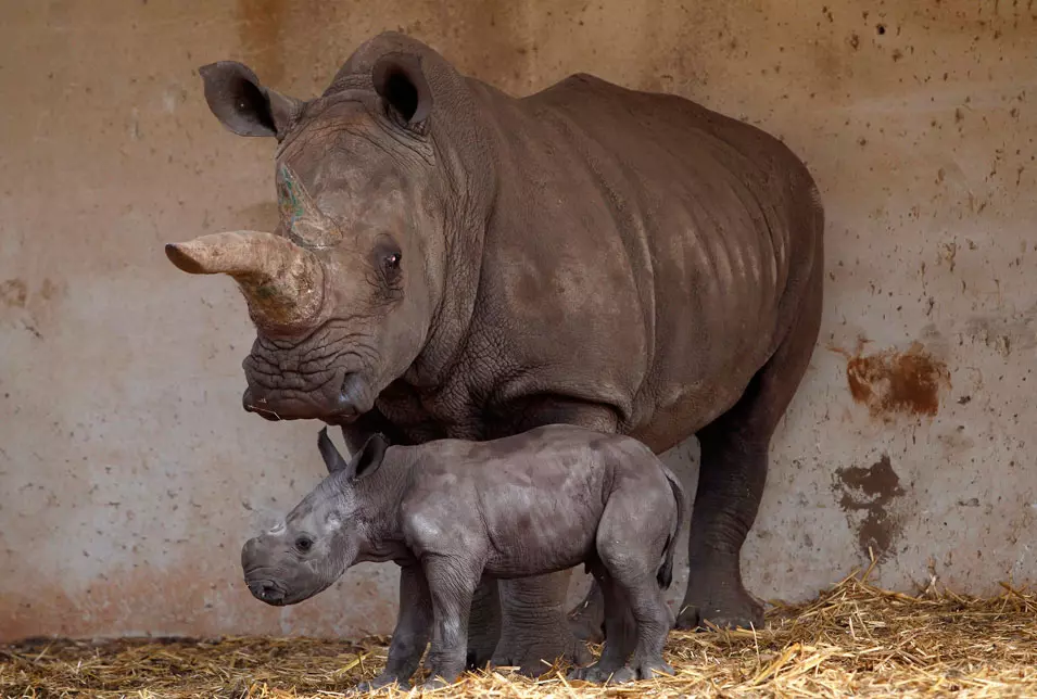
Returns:
[[[258,231],[202,236],[168,243],[166,257],[191,275],[230,275],[258,328],[292,332],[313,327],[324,304],[324,266],[311,251]]]

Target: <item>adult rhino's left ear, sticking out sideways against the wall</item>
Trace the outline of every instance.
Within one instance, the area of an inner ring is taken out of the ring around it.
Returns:
[[[237,61],[217,61],[198,72],[208,109],[238,136],[274,136],[280,141],[302,112],[302,101],[263,87],[255,73]]]

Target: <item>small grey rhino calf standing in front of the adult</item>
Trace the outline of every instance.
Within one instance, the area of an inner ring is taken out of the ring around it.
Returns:
[[[672,674],[662,660],[672,619],[662,589],[686,501],[641,442],[554,424],[490,442],[420,446],[389,446],[376,434],[349,462],[327,429],[319,447],[330,475],[282,525],[250,539],[241,563],[249,589],[270,605],[307,599],[354,563],[400,564],[388,664],[363,689],[407,685],[429,636],[428,665],[441,678],[432,686],[454,682],[466,666],[469,608],[483,576],[580,563],[606,596],[607,640],[597,663],[570,676]]]

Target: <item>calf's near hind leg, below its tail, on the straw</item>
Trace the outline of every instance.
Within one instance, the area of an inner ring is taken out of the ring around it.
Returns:
[[[662,660],[672,618],[657,576],[675,517],[672,492],[665,481],[662,488],[647,482],[621,487],[605,506],[597,533],[598,557],[636,626],[632,653],[612,673],[614,683],[673,674]]]

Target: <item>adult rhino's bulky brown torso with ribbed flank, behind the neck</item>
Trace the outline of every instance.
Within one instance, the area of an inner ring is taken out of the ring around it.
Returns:
[[[527,369],[497,395],[560,387],[634,435],[680,412],[657,450],[723,412],[819,257],[802,163],[673,96],[590,76],[522,100],[469,84],[497,169],[479,306],[501,365]]]

